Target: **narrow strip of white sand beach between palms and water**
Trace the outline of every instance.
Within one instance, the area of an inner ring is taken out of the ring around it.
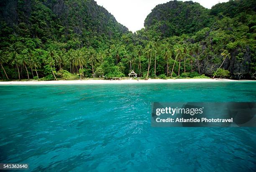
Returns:
[[[173,83],[173,82],[241,82],[251,80],[229,79],[151,79],[151,80],[58,80],[58,81],[3,81],[0,85],[51,85],[51,84],[128,84],[128,83]]]

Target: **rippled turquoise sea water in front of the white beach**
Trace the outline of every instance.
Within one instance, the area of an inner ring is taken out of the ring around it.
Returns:
[[[29,171],[255,171],[256,128],[153,128],[151,102],[255,102],[256,82],[0,86],[0,162]]]

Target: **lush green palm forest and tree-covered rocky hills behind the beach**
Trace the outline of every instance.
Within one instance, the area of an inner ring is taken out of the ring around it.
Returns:
[[[94,0],[0,0],[0,80],[256,79],[256,1],[170,1],[132,33]]]

